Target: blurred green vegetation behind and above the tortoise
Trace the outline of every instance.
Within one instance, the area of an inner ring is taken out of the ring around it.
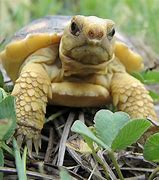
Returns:
[[[0,0],[0,41],[46,15],[95,15],[159,53],[159,0]]]

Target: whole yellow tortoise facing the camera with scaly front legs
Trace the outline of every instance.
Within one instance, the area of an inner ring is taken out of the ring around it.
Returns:
[[[40,146],[46,105],[93,107],[113,103],[132,118],[157,120],[153,100],[129,73],[142,57],[117,40],[112,20],[47,16],[19,30],[1,52],[14,82],[17,141]]]

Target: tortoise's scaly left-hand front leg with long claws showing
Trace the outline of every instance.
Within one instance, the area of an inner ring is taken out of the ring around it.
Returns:
[[[31,156],[32,142],[36,152],[41,146],[40,133],[45,121],[47,97],[51,97],[51,82],[41,64],[28,63],[12,92],[16,96],[17,141],[26,141]]]

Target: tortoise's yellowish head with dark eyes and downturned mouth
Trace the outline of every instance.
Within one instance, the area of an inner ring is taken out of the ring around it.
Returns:
[[[95,16],[74,16],[65,28],[60,57],[81,64],[98,65],[114,53],[114,22]]]

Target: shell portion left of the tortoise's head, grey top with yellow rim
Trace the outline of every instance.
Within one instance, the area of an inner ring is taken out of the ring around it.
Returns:
[[[4,68],[15,81],[25,59],[36,50],[59,43],[70,16],[46,16],[32,21],[11,38],[1,52]]]

